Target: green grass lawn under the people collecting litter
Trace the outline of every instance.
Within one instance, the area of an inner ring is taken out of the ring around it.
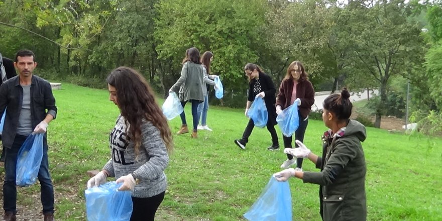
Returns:
[[[108,135],[119,110],[106,90],[66,83],[62,88],[54,90],[58,116],[48,129],[56,218],[85,220],[86,171],[101,168],[109,159]],[[185,112],[191,123],[190,105]],[[255,128],[246,150],[240,150],[233,141],[241,138],[247,122],[243,109],[211,106],[208,126],[213,132],[201,131],[198,139],[174,136],[175,150],[166,170],[169,185],[158,220],[243,219],[286,159],[282,149],[266,149],[271,145],[266,129]],[[173,134],[180,125],[179,117],[170,121]],[[309,121],[304,143],[316,154],[324,130],[321,121]],[[363,147],[368,220],[442,220],[441,146],[441,139],[367,128]],[[303,169],[317,171],[308,160]],[[320,220],[318,186],[296,178],[289,183],[293,220]],[[19,192],[21,203],[31,204],[39,185]]]

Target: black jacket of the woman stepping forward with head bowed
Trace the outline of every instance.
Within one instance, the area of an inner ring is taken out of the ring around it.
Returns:
[[[266,102],[266,108],[267,108],[267,114],[269,115],[269,118],[267,120],[267,126],[275,126],[277,124],[276,122],[276,109],[275,109],[275,102],[276,102],[276,89],[275,85],[273,84],[272,78],[270,78],[269,75],[259,72],[259,81],[261,83],[261,89],[266,94],[264,96],[264,101]],[[254,101],[255,96],[257,95],[255,92],[253,92],[253,85],[255,84],[255,78],[253,78],[249,83],[249,101]]]

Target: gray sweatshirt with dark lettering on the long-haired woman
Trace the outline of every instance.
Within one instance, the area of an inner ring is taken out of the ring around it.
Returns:
[[[109,137],[111,159],[103,169],[117,179],[133,172],[140,179],[132,191],[133,197],[147,198],[164,192],[167,186],[164,170],[169,163],[169,156],[160,131],[143,119],[141,149],[135,159],[134,143],[128,141],[126,127],[120,115]]]

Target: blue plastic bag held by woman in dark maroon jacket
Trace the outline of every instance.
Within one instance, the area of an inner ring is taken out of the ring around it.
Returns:
[[[285,108],[276,117],[276,122],[281,128],[282,134],[285,137],[291,137],[299,127],[298,101]]]

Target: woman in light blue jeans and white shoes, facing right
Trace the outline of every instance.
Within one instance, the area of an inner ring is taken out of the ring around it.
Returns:
[[[207,110],[209,109],[209,85],[213,85],[216,89],[215,82],[211,79],[213,79],[216,75],[209,75],[210,73],[210,63],[213,60],[213,54],[210,51],[204,52],[201,56],[201,64],[204,69],[204,81],[202,83],[202,90],[204,93],[204,101],[198,104],[198,121],[201,117],[201,124],[198,125],[198,130],[207,130],[212,131],[207,126]],[[209,79],[210,78],[210,79]],[[207,85],[209,84],[209,85]]]

